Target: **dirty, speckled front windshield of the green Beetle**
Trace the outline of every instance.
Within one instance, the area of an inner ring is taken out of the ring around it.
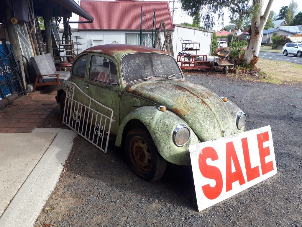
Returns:
[[[183,78],[175,59],[168,54],[160,53],[127,54],[122,59],[122,72],[126,82],[171,75]]]

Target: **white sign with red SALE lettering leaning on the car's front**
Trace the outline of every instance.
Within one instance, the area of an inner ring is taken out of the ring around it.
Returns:
[[[277,173],[271,127],[189,146],[198,210]]]

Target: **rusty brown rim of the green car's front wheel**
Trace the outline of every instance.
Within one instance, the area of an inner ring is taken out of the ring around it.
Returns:
[[[147,173],[151,168],[151,153],[145,140],[140,136],[133,137],[129,152],[133,166],[141,173]]]

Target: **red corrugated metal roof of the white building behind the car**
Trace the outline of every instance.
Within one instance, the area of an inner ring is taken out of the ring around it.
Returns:
[[[79,24],[79,30],[140,30],[140,9],[150,17],[156,8],[156,27],[165,20],[167,30],[174,30],[168,2],[136,2],[133,0],[91,1],[82,0],[80,6],[88,12],[94,21],[92,24]],[[144,19],[143,19],[144,20]],[[87,21],[79,17],[79,21]],[[149,30],[152,30],[153,18]]]

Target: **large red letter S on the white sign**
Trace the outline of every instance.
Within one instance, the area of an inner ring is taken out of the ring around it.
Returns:
[[[216,185],[211,187],[210,184],[201,186],[204,196],[208,199],[216,199],[222,192],[222,175],[220,170],[216,166],[210,166],[207,164],[207,159],[210,158],[212,161],[218,160],[218,155],[213,147],[205,147],[201,150],[198,157],[199,170],[202,176],[208,179],[214,179]]]

